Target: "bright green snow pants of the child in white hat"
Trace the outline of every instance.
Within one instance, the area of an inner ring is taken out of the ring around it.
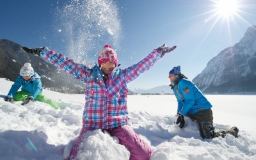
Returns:
[[[30,93],[25,92],[25,91],[19,91],[19,92],[15,93],[13,99],[17,100],[17,101],[23,101],[24,99],[28,98],[29,96],[30,96]],[[45,102],[46,104],[49,104],[50,106],[52,106],[52,108],[60,109],[60,106],[58,106],[58,104],[56,104],[56,102],[54,102],[54,100],[47,99],[47,97],[45,97],[42,93],[39,93],[35,97],[35,100],[38,100],[40,102]]]

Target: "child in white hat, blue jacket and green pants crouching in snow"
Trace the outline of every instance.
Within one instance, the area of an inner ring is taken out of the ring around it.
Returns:
[[[20,87],[21,91],[18,92]],[[15,79],[8,95],[4,98],[7,102],[13,102],[13,99],[24,101],[22,105],[28,104],[31,100],[38,100],[49,104],[52,108],[60,108],[53,100],[47,99],[47,97],[42,94],[41,77],[37,72],[34,72],[30,63],[25,63],[24,66],[20,68],[20,76]]]

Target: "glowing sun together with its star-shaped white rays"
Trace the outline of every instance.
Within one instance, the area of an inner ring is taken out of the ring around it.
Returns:
[[[231,29],[237,28],[241,24],[246,26],[252,26],[246,19],[244,15],[250,15],[246,13],[247,8],[252,8],[249,4],[246,4],[244,0],[209,0],[207,6],[209,10],[196,17],[204,17],[204,28],[207,28],[207,33],[205,33],[204,38],[200,42],[202,45],[210,33],[216,34],[227,34],[229,37],[229,44],[232,44],[232,34]],[[252,16],[252,15],[251,15]],[[254,16],[254,15],[253,15]],[[216,30],[217,29],[217,30]]]

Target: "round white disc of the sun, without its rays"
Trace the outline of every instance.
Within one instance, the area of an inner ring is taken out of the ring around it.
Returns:
[[[229,18],[236,15],[238,2],[236,0],[218,0],[216,3],[216,12],[220,17]]]

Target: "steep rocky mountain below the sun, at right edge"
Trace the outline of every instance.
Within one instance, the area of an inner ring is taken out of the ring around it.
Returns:
[[[193,79],[204,93],[256,93],[256,26],[234,46],[221,51]]]

